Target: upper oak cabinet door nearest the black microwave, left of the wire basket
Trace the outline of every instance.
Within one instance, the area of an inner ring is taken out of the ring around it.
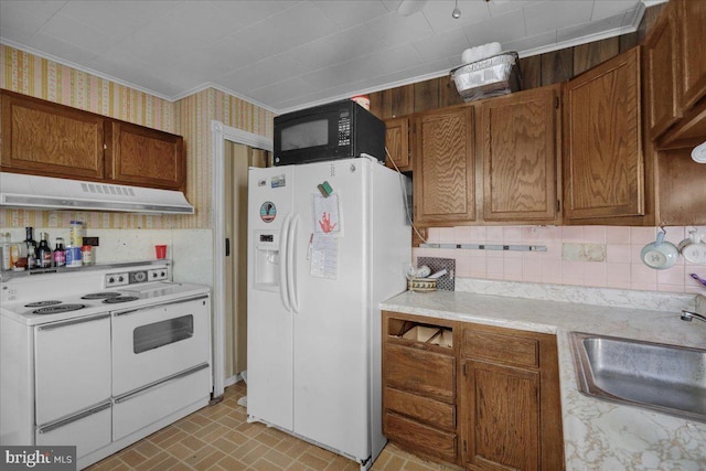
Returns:
[[[473,108],[425,113],[415,122],[415,222],[475,221]]]

